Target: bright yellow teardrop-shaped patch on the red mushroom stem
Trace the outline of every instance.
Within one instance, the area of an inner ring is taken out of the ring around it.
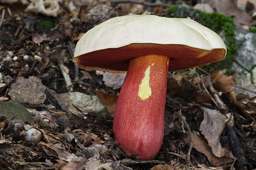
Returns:
[[[145,100],[145,99],[149,98],[149,96],[151,96],[151,87],[149,87],[149,74],[150,74],[150,65],[149,65],[149,67],[147,67],[147,70],[145,71],[145,76],[142,79],[140,86],[139,86],[138,96],[142,100]]]

